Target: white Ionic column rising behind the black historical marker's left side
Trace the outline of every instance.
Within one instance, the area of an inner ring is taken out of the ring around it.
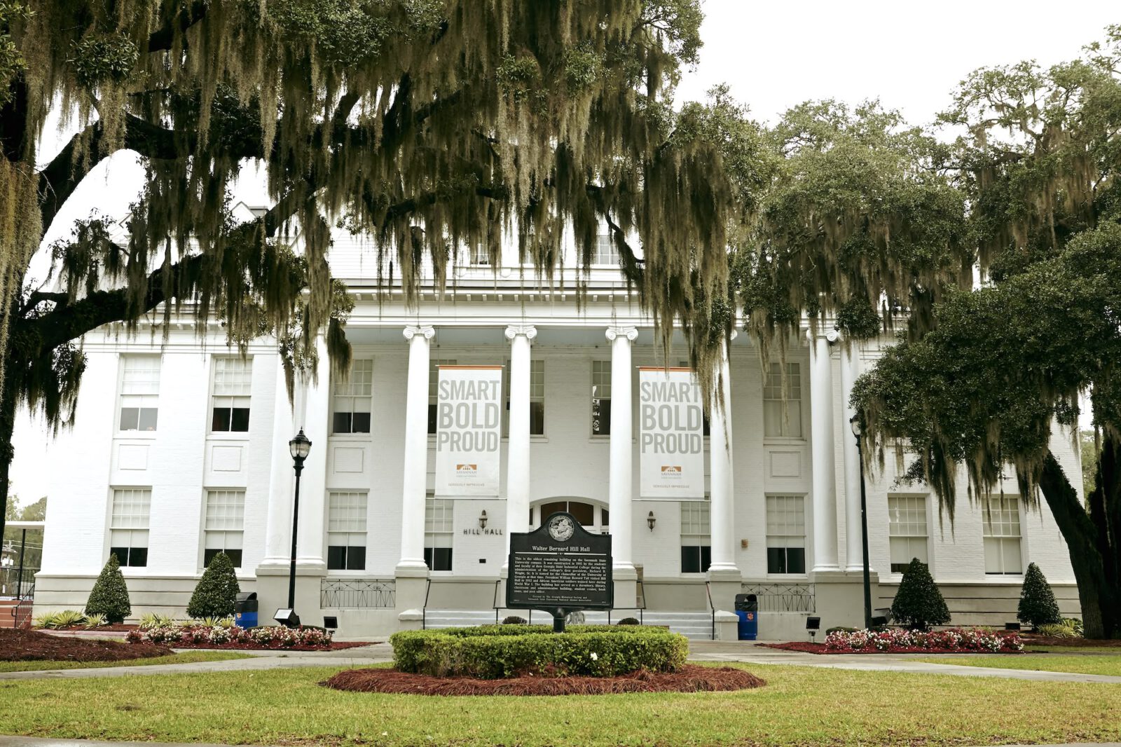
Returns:
[[[529,531],[529,347],[537,336],[532,324],[506,328],[510,341],[510,439],[506,453],[506,551],[510,535]],[[508,561],[502,562],[507,570]]]

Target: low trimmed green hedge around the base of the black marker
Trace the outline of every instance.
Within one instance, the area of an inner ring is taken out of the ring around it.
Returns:
[[[522,674],[614,676],[638,670],[676,672],[685,636],[664,628],[503,625],[402,630],[389,638],[400,672],[484,680]]]

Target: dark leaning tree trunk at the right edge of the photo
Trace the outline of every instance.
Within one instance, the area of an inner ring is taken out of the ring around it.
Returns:
[[[1077,491],[1050,452],[1044,460],[1039,487],[1071,553],[1071,566],[1078,583],[1084,635],[1086,638],[1111,638],[1119,633],[1119,593],[1117,582],[1111,581],[1105,566],[1111,562],[1115,565],[1115,556],[1110,557],[1115,553],[1109,546],[1101,546],[1099,527],[1091,520],[1078,500]]]

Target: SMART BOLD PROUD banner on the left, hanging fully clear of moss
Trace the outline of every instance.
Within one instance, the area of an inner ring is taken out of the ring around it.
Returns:
[[[436,495],[497,498],[502,367],[441,366],[436,386]]]

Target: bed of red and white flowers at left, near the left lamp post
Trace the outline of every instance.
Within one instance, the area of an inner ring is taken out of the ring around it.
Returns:
[[[156,643],[176,648],[288,648],[328,651],[364,646],[364,642],[333,643],[331,633],[319,628],[266,626],[239,628],[223,626],[163,626],[130,630],[128,643]]]

